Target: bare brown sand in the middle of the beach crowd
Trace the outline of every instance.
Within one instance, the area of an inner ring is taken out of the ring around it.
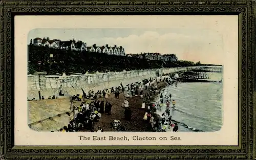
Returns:
[[[165,86],[165,82],[160,82],[158,89],[162,89]],[[145,95],[148,91],[143,90],[143,95]],[[111,94],[109,98],[99,98],[97,100],[110,102],[113,107],[111,110],[111,115],[106,115],[105,113],[102,114],[99,122],[95,123],[95,129],[99,127],[103,128],[104,131],[116,131],[115,129],[111,128],[111,122],[114,120],[120,120],[121,125],[125,127],[125,131],[136,132],[136,131],[151,131],[150,124],[146,123],[143,120],[145,109],[141,108],[142,102],[145,101],[145,107],[147,108],[152,102],[154,102],[155,98],[158,95],[153,95],[151,99],[145,99],[145,97],[141,98],[139,95],[133,98],[125,98],[123,93],[120,93],[119,99],[115,98],[114,94]],[[129,107],[132,110],[132,118],[131,121],[124,120],[124,108],[122,108],[122,103],[124,99],[129,101]],[[87,100],[90,101],[90,100]],[[94,100],[92,100],[94,101]],[[75,102],[76,106],[79,106],[81,102]],[[89,130],[84,130],[89,131]]]

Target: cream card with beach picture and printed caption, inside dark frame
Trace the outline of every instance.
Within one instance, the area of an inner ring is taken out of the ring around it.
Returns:
[[[17,144],[238,144],[237,16],[15,18]]]

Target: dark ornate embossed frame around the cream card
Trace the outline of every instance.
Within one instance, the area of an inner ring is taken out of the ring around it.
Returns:
[[[254,159],[255,1],[2,1],[2,159]],[[233,14],[239,15],[238,146],[14,146],[14,16],[51,14]],[[254,107],[253,107],[254,106]],[[253,127],[254,126],[254,127]]]

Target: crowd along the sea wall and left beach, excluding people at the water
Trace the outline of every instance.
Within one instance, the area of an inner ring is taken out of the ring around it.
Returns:
[[[93,92],[89,90],[88,94],[82,90],[82,95],[74,95],[73,101],[81,101],[81,105],[75,109],[78,111],[75,119],[72,120],[68,126],[61,128],[61,131],[81,131],[88,129],[91,131],[103,131],[103,128],[95,130],[94,123],[98,122],[102,114],[111,115],[112,104],[109,102],[99,101],[99,98],[108,98],[110,94],[114,94],[115,98],[118,99],[120,93],[125,97],[120,107],[124,108],[124,120],[131,121],[132,109],[129,105],[129,99],[133,97],[140,97],[141,99],[151,99],[153,95],[160,94],[159,83],[165,81],[165,79],[156,78],[145,79],[141,82],[135,82],[127,85],[120,83],[117,87],[106,88]],[[167,81],[166,81],[167,82]],[[84,101],[91,100],[90,103]],[[121,125],[120,120],[114,120],[110,123],[110,127],[118,131],[125,130],[125,127]]]

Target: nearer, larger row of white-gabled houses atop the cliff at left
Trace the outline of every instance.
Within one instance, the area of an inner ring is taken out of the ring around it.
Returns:
[[[118,56],[125,56],[124,48],[122,46],[117,47],[117,45],[114,45],[114,47],[109,46],[108,44],[97,46],[96,44],[93,44],[92,46],[88,47],[87,43],[84,43],[80,40],[75,41],[69,40],[69,41],[61,41],[59,39],[53,39],[50,40],[49,37],[47,38],[34,38],[33,43],[32,39],[30,40],[30,44],[33,45],[41,45],[49,48],[54,49],[61,49],[61,50],[75,50],[75,51],[89,51],[89,52],[97,52],[97,53],[104,53],[109,55],[118,55]]]

